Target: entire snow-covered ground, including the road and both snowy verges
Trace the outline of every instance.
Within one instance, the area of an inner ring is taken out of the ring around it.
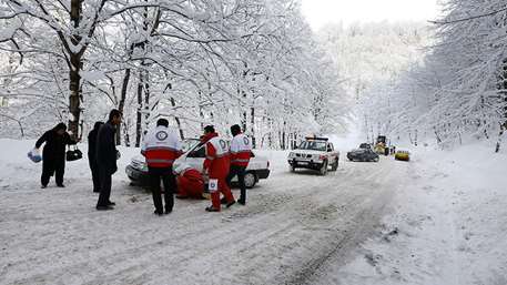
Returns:
[[[273,172],[246,206],[176,201],[159,217],[122,171],[136,150],[122,149],[116,208],[97,212],[87,160],[68,163],[65,189],[41,190],[32,144],[0,140],[0,284],[507,283],[507,155],[491,147],[410,163],[342,152],[325,177],[263,151]]]

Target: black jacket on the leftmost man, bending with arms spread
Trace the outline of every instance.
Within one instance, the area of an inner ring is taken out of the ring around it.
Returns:
[[[39,149],[45,142],[44,150],[42,151],[43,161],[65,160],[65,146],[68,144],[77,144],[69,133],[59,135],[57,131],[50,130],[45,132],[37,142],[36,147]]]

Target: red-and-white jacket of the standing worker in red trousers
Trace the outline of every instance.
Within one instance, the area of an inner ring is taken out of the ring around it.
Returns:
[[[210,179],[224,179],[230,166],[227,143],[217,133],[209,134],[203,140],[206,142],[204,170],[207,170]]]

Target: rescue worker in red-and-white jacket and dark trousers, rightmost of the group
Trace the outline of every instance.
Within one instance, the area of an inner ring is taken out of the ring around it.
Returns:
[[[241,126],[235,124],[231,126],[231,133],[234,136],[231,141],[231,169],[227,175],[227,185],[231,187],[231,181],[237,175],[237,182],[241,189],[241,195],[237,203],[246,204],[245,173],[252,157],[252,143],[250,139],[241,132]]]

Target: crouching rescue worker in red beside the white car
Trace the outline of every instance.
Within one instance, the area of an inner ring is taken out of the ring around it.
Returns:
[[[201,172],[182,164],[174,170],[174,173],[178,174],[178,199],[203,199],[204,179]]]

